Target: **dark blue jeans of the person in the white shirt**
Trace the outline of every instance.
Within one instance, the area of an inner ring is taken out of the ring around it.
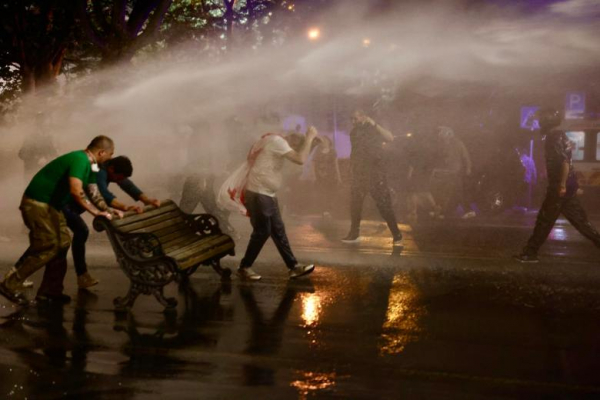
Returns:
[[[240,268],[250,268],[267,239],[271,238],[285,265],[293,269],[298,261],[290,248],[277,199],[250,191],[246,191],[245,199],[253,230]]]

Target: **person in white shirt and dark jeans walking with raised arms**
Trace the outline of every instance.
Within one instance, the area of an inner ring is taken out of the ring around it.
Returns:
[[[316,136],[317,130],[314,127],[307,130],[306,136],[298,133],[287,136],[267,134],[250,151],[248,161],[251,166],[244,191],[244,205],[248,210],[253,231],[246,254],[237,270],[240,278],[253,281],[261,278],[251,267],[269,237],[273,239],[289,269],[290,278],[314,271],[314,264],[299,265],[292,253],[276,193],[283,180],[282,168],[285,160],[304,164]]]

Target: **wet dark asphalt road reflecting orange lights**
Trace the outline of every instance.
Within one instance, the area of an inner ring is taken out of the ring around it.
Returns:
[[[310,278],[289,282],[268,244],[262,281],[201,269],[168,287],[172,314],[145,296],[113,311],[128,283],[98,235],[89,264],[101,284],[77,292],[70,270],[71,304],[0,299],[0,398],[600,398],[600,250],[561,223],[542,263],[514,263],[530,223],[403,225],[394,251],[380,223],[348,246],[344,222],[288,219],[297,255],[317,263]],[[3,271],[25,247],[0,243]]]

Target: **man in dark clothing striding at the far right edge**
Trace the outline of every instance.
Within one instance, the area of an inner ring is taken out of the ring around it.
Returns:
[[[543,109],[538,113],[542,135],[546,136],[545,156],[548,189],[540,208],[533,234],[523,252],[515,256],[522,263],[537,263],[538,251],[552,231],[556,220],[563,214],[583,236],[600,247],[600,233],[588,221],[577,198],[577,178],[571,158],[572,143],[560,130],[560,114],[556,110]]]

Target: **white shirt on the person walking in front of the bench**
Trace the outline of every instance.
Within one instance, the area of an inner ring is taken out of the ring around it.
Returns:
[[[248,174],[246,189],[265,196],[275,197],[283,181],[284,155],[293,151],[281,136],[269,136],[256,157]]]

